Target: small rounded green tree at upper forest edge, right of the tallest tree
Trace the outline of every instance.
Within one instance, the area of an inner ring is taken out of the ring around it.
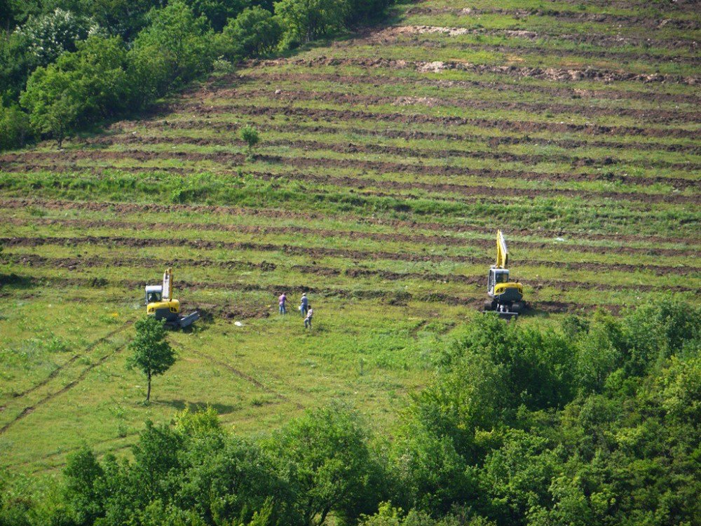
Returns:
[[[270,11],[259,6],[246,8],[218,36],[218,52],[230,60],[265,55],[278,46],[282,32]]]

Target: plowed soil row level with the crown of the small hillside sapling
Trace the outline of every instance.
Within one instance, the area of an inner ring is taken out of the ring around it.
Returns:
[[[701,100],[699,101],[701,104]],[[236,122],[212,122],[203,120],[192,121],[149,121],[139,122],[139,128],[145,127],[147,130],[222,130],[235,132],[241,128],[240,123]],[[115,132],[126,132],[135,128],[135,123],[121,122],[111,127]],[[470,133],[443,133],[440,131],[421,131],[421,130],[372,130],[362,128],[334,128],[333,126],[318,126],[299,124],[262,124],[257,126],[261,132],[298,132],[298,133],[324,133],[324,134],[343,134],[353,133],[353,135],[365,135],[367,137],[381,137],[390,139],[408,139],[408,140],[451,140],[451,141],[468,141],[468,142],[485,142],[490,147],[499,147],[512,144],[540,144],[552,145],[560,148],[576,149],[584,147],[597,147],[608,149],[626,149],[626,150],[645,150],[645,151],[672,151],[692,155],[701,155],[701,147],[695,144],[666,144],[664,142],[615,142],[607,140],[573,140],[573,139],[554,139],[543,137],[530,137],[529,135],[521,135],[518,137],[505,137],[503,135],[472,135]],[[134,135],[125,135],[124,137],[135,137]],[[170,137],[172,141],[180,140],[180,137]],[[191,138],[192,141],[205,140],[201,138]],[[222,144],[238,144],[238,138],[233,140],[225,138],[220,139]],[[110,144],[107,137],[104,139],[86,140],[86,144]],[[193,144],[204,144],[193,142]],[[270,144],[266,141],[265,144]]]

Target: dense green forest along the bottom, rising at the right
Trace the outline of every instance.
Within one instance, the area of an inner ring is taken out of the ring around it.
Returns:
[[[130,459],[73,454],[50,490],[7,476],[0,525],[699,525],[700,315],[484,316],[391,436],[340,405],[257,438],[186,410]]]

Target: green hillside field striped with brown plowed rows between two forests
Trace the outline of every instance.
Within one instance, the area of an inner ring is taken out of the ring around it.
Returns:
[[[694,299],[696,7],[406,4],[60,151],[1,155],[0,456],[37,472],[82,441],[118,452],[188,404],[254,433],[343,399],[388,429],[477,316],[497,228],[533,306],[518,323]],[[207,316],[172,335],[144,407],[125,345],[170,264]],[[305,290],[313,332],[275,312]]]

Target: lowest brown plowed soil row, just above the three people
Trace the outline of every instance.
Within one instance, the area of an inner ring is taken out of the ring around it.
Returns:
[[[51,283],[53,286],[77,286],[80,288],[104,288],[107,286],[123,288],[125,290],[139,290],[144,286],[144,282],[136,280],[108,280],[105,278],[30,278],[36,286],[45,286],[47,283]],[[484,281],[484,280],[483,280]],[[218,282],[194,282],[194,281],[178,281],[179,287],[189,290],[236,290],[240,292],[266,292],[271,298],[278,297],[282,292],[306,292],[307,294],[313,294],[318,297],[339,297],[343,299],[358,299],[358,300],[377,300],[384,304],[404,306],[408,302],[423,302],[423,303],[444,303],[449,305],[465,305],[471,306],[472,308],[482,308],[484,303],[484,297],[457,297],[452,295],[447,295],[442,292],[430,292],[423,295],[412,295],[410,292],[406,291],[394,291],[394,290],[351,290],[351,289],[341,289],[341,288],[316,288],[308,285],[287,285],[287,284],[277,284],[277,285],[255,285],[255,284],[245,284],[238,282],[231,283],[218,283]],[[486,296],[486,292],[485,292]],[[564,313],[576,310],[589,310],[604,308],[611,311],[618,311],[620,306],[616,305],[580,305],[572,302],[554,302],[554,301],[538,301],[533,302],[536,307],[536,311],[550,312],[550,313]],[[259,313],[256,316],[248,317],[268,317],[270,316],[270,306],[265,307],[265,315],[260,316]],[[202,309],[196,303],[192,305],[187,304],[187,310],[192,309]],[[226,309],[226,307],[224,307]],[[209,314],[206,307],[202,309],[205,313]],[[225,319],[233,319],[235,317],[229,317],[226,315],[220,315],[219,313],[214,313],[215,316],[221,316]]]

